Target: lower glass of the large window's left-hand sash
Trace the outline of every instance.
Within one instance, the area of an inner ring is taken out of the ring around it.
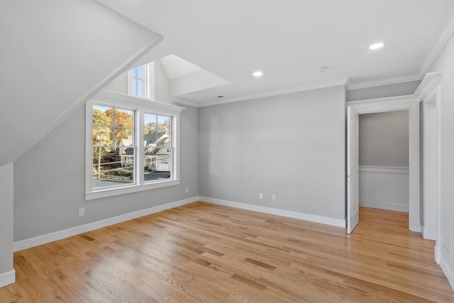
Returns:
[[[93,148],[93,188],[121,187],[134,183],[134,153],[120,148]]]

